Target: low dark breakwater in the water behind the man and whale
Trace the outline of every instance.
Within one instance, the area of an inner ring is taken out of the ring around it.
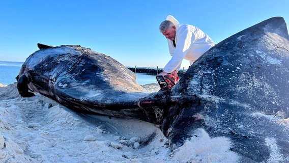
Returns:
[[[158,75],[159,73],[163,71],[162,69],[159,69],[158,67],[157,68],[144,68],[144,67],[135,66],[135,67],[128,67],[128,69],[134,73],[145,73],[148,75]],[[180,69],[178,72],[178,75],[182,76],[185,72],[186,70],[184,68]]]

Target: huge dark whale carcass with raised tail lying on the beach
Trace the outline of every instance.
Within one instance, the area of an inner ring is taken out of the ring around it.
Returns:
[[[288,39],[283,18],[265,20],[218,43],[174,88],[155,94],[142,93],[134,79],[118,84],[130,72],[119,73],[115,60],[105,71],[98,67],[106,61],[97,62],[105,56],[85,67],[82,57],[89,58],[90,49],[49,47],[28,57],[17,85],[21,95],[30,89],[79,112],[159,124],[172,149],[198,137],[201,129],[231,140],[240,162],[288,162]]]

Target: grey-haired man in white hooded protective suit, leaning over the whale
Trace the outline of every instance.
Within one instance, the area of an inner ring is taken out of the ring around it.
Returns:
[[[169,53],[172,56],[159,75],[171,73],[177,76],[183,59],[189,60],[191,66],[215,45],[212,39],[196,26],[180,24],[171,15],[160,24],[159,30],[167,39]]]

